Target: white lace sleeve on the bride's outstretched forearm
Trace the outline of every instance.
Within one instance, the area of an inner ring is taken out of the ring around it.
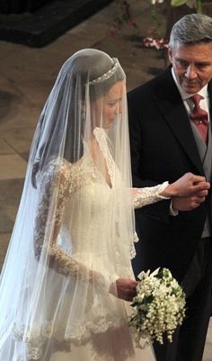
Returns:
[[[155,185],[145,188],[133,188],[132,194],[134,208],[141,208],[148,204],[163,201],[164,199],[169,199],[167,197],[163,197],[163,195],[160,195],[168,184],[168,182],[164,182],[162,185]]]

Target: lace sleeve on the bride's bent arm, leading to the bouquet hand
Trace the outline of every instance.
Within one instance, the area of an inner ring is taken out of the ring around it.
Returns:
[[[49,244],[49,267],[54,268],[57,273],[71,276],[73,279],[86,280],[90,284],[95,283],[100,291],[109,293],[110,284],[114,281],[114,276],[106,277],[87,269],[86,266],[70,257],[66,251],[57,245],[57,236],[63,220],[63,214],[66,206],[66,200],[72,192],[71,168],[64,162],[57,172],[54,164],[49,165],[48,170],[44,171],[40,179],[39,205],[35,219],[34,228],[34,253],[37,260],[43,248],[45,233],[47,230],[53,230],[53,236]],[[51,206],[53,194],[57,194],[56,212],[54,217],[49,217],[49,208]],[[50,219],[50,220],[49,220]]]

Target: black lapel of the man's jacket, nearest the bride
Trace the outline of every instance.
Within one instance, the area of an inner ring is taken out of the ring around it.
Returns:
[[[163,119],[172,130],[175,138],[181,144],[182,149],[188,155],[199,173],[204,175],[199,150],[197,148],[191,127],[190,119],[181,101],[181,95],[172,79],[170,68],[167,68],[162,77],[163,81],[158,83],[158,92],[155,102],[160,112],[163,113]]]

